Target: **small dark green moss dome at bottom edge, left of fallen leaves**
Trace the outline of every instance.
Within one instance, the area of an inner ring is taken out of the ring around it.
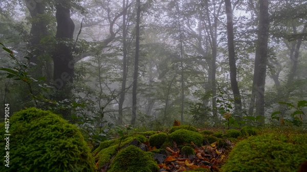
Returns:
[[[133,156],[131,156],[133,155]],[[135,146],[128,146],[121,150],[110,165],[109,172],[148,172],[159,171],[153,158]]]

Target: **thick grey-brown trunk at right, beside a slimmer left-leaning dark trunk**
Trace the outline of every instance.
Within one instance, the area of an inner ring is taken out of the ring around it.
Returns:
[[[267,56],[268,56],[268,38],[269,38],[269,1],[260,0],[260,13],[258,25],[257,49],[255,56],[255,71],[254,75],[256,83],[255,98],[256,98],[256,116],[265,117],[265,81],[267,72]],[[258,70],[256,70],[256,68]],[[265,123],[264,118],[260,121]]]

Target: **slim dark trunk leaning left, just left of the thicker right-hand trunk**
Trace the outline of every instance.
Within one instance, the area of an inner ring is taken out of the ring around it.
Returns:
[[[225,0],[226,15],[227,15],[227,41],[228,41],[228,58],[230,67],[230,83],[233,93],[233,99],[235,103],[235,110],[239,114],[239,118],[242,119],[241,111],[241,96],[239,92],[238,82],[236,78],[236,64],[235,64],[235,52],[234,52],[234,36],[233,36],[233,14],[230,0]]]

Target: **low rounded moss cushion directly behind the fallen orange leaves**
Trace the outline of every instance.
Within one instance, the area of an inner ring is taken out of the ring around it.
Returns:
[[[178,145],[190,144],[192,141],[195,145],[201,146],[203,144],[203,135],[198,132],[189,131],[186,129],[179,129],[170,134],[170,138]]]

